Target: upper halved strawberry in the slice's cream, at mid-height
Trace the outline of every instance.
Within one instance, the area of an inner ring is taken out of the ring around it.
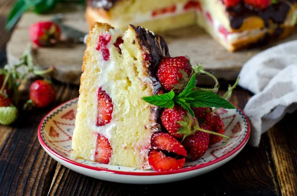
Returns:
[[[113,111],[112,100],[100,87],[98,90],[97,126],[103,126],[110,122]]]

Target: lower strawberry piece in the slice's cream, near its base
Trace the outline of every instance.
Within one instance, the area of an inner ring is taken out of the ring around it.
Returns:
[[[108,139],[98,134],[95,150],[95,160],[103,164],[108,164],[109,158],[111,157],[111,151],[112,148],[110,147]]]

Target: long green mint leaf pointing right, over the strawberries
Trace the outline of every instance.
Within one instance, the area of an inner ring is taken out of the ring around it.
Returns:
[[[201,90],[193,90],[190,97],[195,100],[189,100],[188,102],[192,107],[215,107],[215,108],[224,108],[224,109],[236,109],[230,102],[220,97],[219,95]]]

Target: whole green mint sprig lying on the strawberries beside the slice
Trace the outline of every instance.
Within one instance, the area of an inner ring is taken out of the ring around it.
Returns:
[[[194,88],[196,88],[196,74],[191,77],[187,86],[180,94],[175,94],[174,91],[170,91],[161,95],[143,97],[142,99],[161,108],[172,109],[175,104],[178,104],[187,110],[193,118],[195,114],[191,109],[192,107],[236,109],[229,101],[219,95],[211,91],[194,90]]]

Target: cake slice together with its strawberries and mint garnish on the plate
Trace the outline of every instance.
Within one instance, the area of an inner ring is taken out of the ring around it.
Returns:
[[[193,69],[184,56],[170,57],[165,40],[143,27],[129,25],[123,33],[96,22],[82,69],[74,157],[170,171],[228,139],[209,108],[235,108],[212,92],[218,83],[196,87],[199,74],[211,74]],[[212,102],[204,103],[202,95]]]

